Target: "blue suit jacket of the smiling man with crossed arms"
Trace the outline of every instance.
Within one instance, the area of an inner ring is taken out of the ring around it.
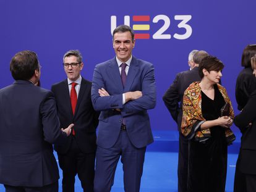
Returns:
[[[98,89],[105,88],[110,96],[100,97]],[[122,104],[122,93],[142,91],[142,97]],[[92,101],[96,111],[101,111],[97,144],[111,148],[118,138],[122,118],[126,118],[129,140],[137,148],[153,142],[147,109],[156,104],[154,67],[152,64],[132,57],[126,85],[122,86],[121,75],[113,59],[96,65],[92,81]],[[116,108],[121,109],[117,112]]]

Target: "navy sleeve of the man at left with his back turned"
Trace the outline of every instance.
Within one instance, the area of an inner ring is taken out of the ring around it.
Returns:
[[[52,144],[64,144],[67,141],[67,135],[60,130],[53,93],[49,92],[41,103],[40,114],[45,141]]]

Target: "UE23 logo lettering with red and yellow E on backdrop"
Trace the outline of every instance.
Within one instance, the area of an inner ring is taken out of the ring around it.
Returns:
[[[192,27],[187,24],[189,20],[192,19],[192,15],[174,15],[174,20],[181,20],[179,24],[177,25],[178,28],[184,28],[185,33],[183,34],[178,34],[175,33],[173,35],[174,38],[177,40],[186,40],[192,35]],[[150,21],[150,15],[134,15],[132,16],[132,20],[134,22],[149,22]],[[152,38],[155,40],[168,40],[171,39],[170,34],[164,33],[166,30],[168,30],[170,26],[170,19],[166,15],[156,15],[152,22],[153,23],[158,23],[160,20],[164,21],[163,26],[156,31]],[[126,15],[124,16],[124,25],[129,25],[130,26],[130,16]],[[111,34],[113,34],[114,29],[116,28],[116,15],[111,16]],[[149,33],[140,33],[141,31],[143,32],[148,32],[150,30],[150,25],[148,24],[139,24],[139,25],[132,25],[132,29],[134,30],[134,38],[135,39],[149,39],[150,34]],[[136,33],[136,32],[139,33]]]

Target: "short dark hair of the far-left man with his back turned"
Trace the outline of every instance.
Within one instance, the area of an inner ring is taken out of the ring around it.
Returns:
[[[10,71],[14,80],[30,80],[40,70],[38,58],[33,51],[20,51],[12,57]]]

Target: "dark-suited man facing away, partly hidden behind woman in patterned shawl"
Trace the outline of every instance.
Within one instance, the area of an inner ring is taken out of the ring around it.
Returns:
[[[197,51],[190,62],[191,70],[177,73],[173,84],[164,93],[163,101],[169,110],[171,117],[177,123],[179,130],[179,160],[178,160],[178,191],[187,192],[187,165],[188,165],[188,141],[181,133],[182,120],[182,99],[184,91],[189,87],[190,83],[200,81],[198,73],[198,65],[202,59],[208,56],[205,51]]]

